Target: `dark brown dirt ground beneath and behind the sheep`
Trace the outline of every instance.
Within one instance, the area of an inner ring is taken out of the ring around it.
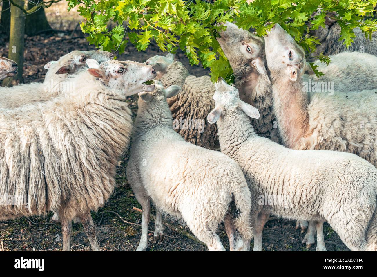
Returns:
[[[42,82],[46,70],[43,65],[51,60],[56,60],[60,56],[75,49],[90,50],[80,29],[76,28],[81,20],[75,11],[66,12],[66,4],[56,3],[47,11],[47,18],[54,30],[54,34],[41,34],[35,37],[27,37],[25,45],[24,78],[25,83]],[[74,31],[75,30],[75,31]],[[147,51],[138,52],[131,44],[126,51],[118,57],[119,60],[134,60],[144,62],[147,58],[160,54],[158,47],[152,44]],[[0,34],[0,56],[8,56],[8,39]],[[208,70],[200,66],[189,65],[189,61],[182,52],[177,53],[176,59],[184,63],[193,75],[201,76],[208,74]],[[134,115],[137,111],[136,97],[129,97],[127,102]],[[141,234],[141,213],[135,211],[133,207],[141,208],[132,189],[126,180],[126,165],[128,160],[128,150],[118,163],[116,174],[116,184],[112,197],[104,208],[98,212],[92,212],[93,221],[97,228],[97,237],[101,248],[104,251],[133,251],[138,246]],[[118,213],[124,220],[123,222]],[[154,210],[152,209],[152,213]],[[52,213],[44,217],[21,218],[18,220],[8,220],[0,222],[0,240],[2,246],[0,251],[60,251],[63,246],[63,238],[59,223],[51,222]],[[167,219],[168,222],[170,222]],[[171,222],[170,222],[171,223]],[[189,231],[187,227],[172,223],[174,229],[165,229],[164,237],[160,242],[153,239],[153,234],[149,233],[149,251],[206,251],[207,247],[201,243],[189,239],[181,234],[182,231]],[[153,230],[153,220],[149,229]],[[348,251],[349,249],[342,243],[339,236],[333,229],[325,223],[325,243],[328,251]],[[218,234],[225,248],[229,249],[228,239],[224,231],[224,226],[219,226]],[[267,222],[263,232],[263,248],[265,251],[315,251],[315,245],[306,249],[301,245],[304,234],[295,230],[295,222],[274,219]],[[253,241],[251,242],[253,244]],[[253,245],[251,245],[251,248]],[[80,223],[74,224],[71,238],[72,251],[89,251],[90,244],[83,232]]]

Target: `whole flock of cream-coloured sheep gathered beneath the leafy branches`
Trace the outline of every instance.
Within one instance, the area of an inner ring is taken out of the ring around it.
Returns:
[[[43,83],[0,88],[0,200],[13,200],[1,203],[0,220],[53,211],[63,250],[79,220],[99,251],[90,211],[112,194],[132,138],[127,180],[143,208],[139,251],[148,246],[151,201],[156,239],[164,214],[209,250],[225,250],[216,234],[224,222],[231,250],[248,251],[253,237],[261,251],[273,214],[297,220],[307,247],[317,234],[317,251],[326,251],[325,221],[349,249],[377,251],[375,47],[340,52],[327,67],[316,62],[325,73],[318,79],[278,24],[263,38],[225,25],[218,41],[234,85],[190,76],[172,54],[141,64],[73,51],[44,66]],[[0,58],[0,79],[16,71]],[[303,91],[312,81],[334,87]],[[133,94],[134,123],[124,102]],[[17,203],[25,195],[27,205]]]

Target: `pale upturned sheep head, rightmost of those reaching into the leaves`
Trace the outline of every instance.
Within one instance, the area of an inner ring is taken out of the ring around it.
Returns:
[[[296,81],[306,70],[311,71],[303,48],[279,24],[268,31],[264,40],[268,69],[275,78]]]

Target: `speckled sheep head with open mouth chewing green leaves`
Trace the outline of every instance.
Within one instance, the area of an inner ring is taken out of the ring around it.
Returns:
[[[156,77],[156,71],[150,65],[117,60],[99,64],[94,59],[87,59],[86,63],[89,66],[87,71],[90,75],[110,89],[121,91],[124,96],[142,91],[152,92],[155,89],[154,85],[144,83]]]

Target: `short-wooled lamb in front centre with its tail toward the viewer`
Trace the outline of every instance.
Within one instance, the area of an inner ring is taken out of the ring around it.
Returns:
[[[156,206],[155,237],[161,239],[163,213],[183,220],[210,251],[224,251],[216,234],[234,197],[235,227],[241,235],[236,250],[248,250],[250,191],[236,163],[218,151],[186,142],[173,128],[166,98],[178,94],[176,85],[139,94],[127,180],[143,208],[142,234],[137,251],[148,246],[150,201]],[[233,217],[233,216],[231,216]],[[231,242],[232,245],[232,242]]]

